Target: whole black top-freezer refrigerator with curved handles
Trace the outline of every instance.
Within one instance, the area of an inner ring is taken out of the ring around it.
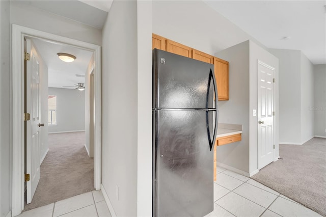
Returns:
[[[213,70],[212,64],[153,50],[153,216],[213,211]]]

